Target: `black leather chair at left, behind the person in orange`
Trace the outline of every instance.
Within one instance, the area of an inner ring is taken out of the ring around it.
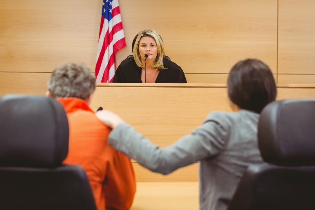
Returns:
[[[96,209],[84,170],[63,165],[69,128],[43,96],[0,98],[0,209]]]

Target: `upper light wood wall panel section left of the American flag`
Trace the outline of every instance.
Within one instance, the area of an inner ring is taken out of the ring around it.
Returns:
[[[95,66],[101,1],[0,1],[0,71]],[[93,68],[92,68],[93,70]]]

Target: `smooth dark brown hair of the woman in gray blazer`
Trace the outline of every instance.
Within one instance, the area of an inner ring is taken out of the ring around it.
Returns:
[[[269,67],[260,60],[236,63],[227,79],[230,100],[241,109],[260,113],[277,96],[277,87]]]

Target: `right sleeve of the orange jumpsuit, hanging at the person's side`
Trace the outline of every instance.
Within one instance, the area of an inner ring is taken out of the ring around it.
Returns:
[[[127,156],[114,150],[112,157],[112,161],[108,163],[108,171],[103,186],[106,208],[129,209],[135,197],[135,173]]]

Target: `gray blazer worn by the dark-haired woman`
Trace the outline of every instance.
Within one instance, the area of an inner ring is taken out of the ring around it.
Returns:
[[[214,111],[191,134],[165,148],[122,123],[110,133],[109,144],[163,174],[199,161],[200,209],[226,209],[247,166],[262,163],[258,118],[259,114],[247,110]]]

